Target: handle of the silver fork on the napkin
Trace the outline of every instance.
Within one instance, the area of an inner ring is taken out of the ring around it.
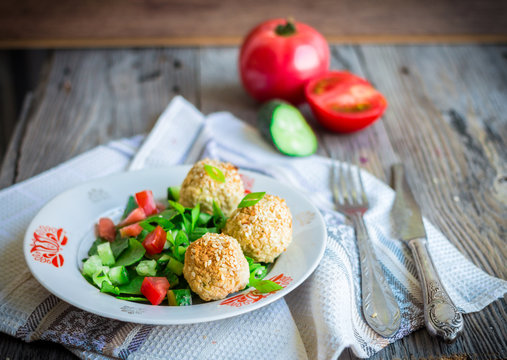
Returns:
[[[353,215],[352,221],[359,248],[361,296],[365,320],[380,335],[393,336],[401,323],[400,307],[384,277],[362,215]]]

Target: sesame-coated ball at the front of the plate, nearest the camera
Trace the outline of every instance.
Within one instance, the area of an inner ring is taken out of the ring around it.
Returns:
[[[236,239],[207,233],[188,246],[183,276],[193,292],[210,301],[242,290],[248,284],[250,271]]]

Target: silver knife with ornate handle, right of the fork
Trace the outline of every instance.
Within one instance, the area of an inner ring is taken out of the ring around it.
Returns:
[[[403,165],[393,165],[392,174],[396,198],[391,217],[397,235],[408,244],[414,256],[423,293],[426,328],[431,335],[453,342],[463,331],[463,316],[442,286],[431,260],[421,210],[408,186]]]

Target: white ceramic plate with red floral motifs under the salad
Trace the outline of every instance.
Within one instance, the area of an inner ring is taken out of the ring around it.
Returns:
[[[294,290],[317,267],[325,249],[326,229],[318,210],[296,190],[248,171],[240,171],[245,187],[284,198],[293,216],[293,241],[266,279],[284,288],[260,294],[247,289],[225,300],[175,307],[118,300],[101,293],[81,275],[82,259],[95,240],[94,224],[108,216],[117,220],[129,195],[150,189],[166,197],[179,185],[189,166],[121,173],[65,191],[32,220],[25,234],[24,254],[30,271],[50,292],[83,310],[142,324],[189,324],[223,319],[265,306]]]

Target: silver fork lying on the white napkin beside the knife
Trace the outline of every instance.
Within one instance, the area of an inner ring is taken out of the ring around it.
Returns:
[[[359,166],[354,174],[350,163],[338,167],[333,159],[333,177],[335,205],[352,221],[356,230],[364,317],[380,335],[393,336],[400,327],[400,308],[384,277],[363,220],[369,204]]]

